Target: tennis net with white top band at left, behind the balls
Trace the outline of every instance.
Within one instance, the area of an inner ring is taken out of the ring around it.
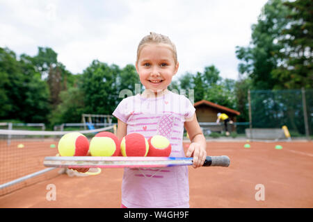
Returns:
[[[45,168],[43,160],[58,154],[58,141],[66,133],[82,133],[90,141],[95,134],[114,129],[112,125],[81,131],[0,130],[0,196],[60,175],[61,169]]]

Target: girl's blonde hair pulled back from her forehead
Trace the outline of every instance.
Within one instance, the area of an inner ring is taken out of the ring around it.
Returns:
[[[141,53],[141,49],[143,49],[143,46],[150,43],[168,44],[170,46],[170,49],[172,50],[172,55],[174,56],[175,64],[177,64],[177,51],[175,44],[172,41],[170,41],[170,38],[168,36],[153,32],[150,32],[150,35],[146,35],[145,37],[143,37],[141,42],[139,42],[136,63],[138,63],[139,55]]]

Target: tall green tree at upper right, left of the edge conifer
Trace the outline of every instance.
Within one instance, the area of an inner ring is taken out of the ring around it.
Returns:
[[[257,24],[251,27],[249,46],[236,46],[236,57],[242,61],[239,72],[252,79],[255,89],[273,89],[278,82],[277,76],[272,73],[278,67],[278,61],[273,55],[284,48],[278,39],[287,27],[286,17],[289,13],[289,8],[284,6],[282,0],[269,0],[259,15]]]

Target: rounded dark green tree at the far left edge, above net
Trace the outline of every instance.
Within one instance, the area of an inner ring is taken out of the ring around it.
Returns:
[[[49,113],[47,84],[35,71],[29,56],[19,60],[10,49],[0,48],[1,119],[45,122]]]

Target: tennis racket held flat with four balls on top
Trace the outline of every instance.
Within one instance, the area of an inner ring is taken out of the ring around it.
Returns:
[[[139,168],[192,165],[193,157],[45,157],[45,167],[70,168]],[[228,167],[226,155],[207,156],[203,167]]]

